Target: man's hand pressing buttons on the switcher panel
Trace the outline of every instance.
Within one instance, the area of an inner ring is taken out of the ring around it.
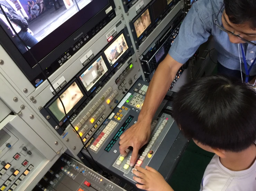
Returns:
[[[130,166],[132,167],[138,157],[139,149],[148,142],[150,138],[151,121],[138,121],[127,129],[120,137],[120,154],[127,155],[126,149],[133,147]]]

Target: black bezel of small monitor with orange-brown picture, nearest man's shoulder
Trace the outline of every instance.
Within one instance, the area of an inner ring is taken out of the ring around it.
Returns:
[[[138,20],[141,15],[146,11],[146,10],[149,10],[149,17],[150,17],[150,20],[151,20],[151,23],[150,25],[141,33],[141,35],[139,37],[137,37],[137,33],[136,33],[136,30],[135,30],[135,26],[134,26],[134,23],[136,20]],[[133,39],[134,41],[137,41],[137,43],[139,41],[141,41],[141,39],[143,37],[145,37],[145,34],[147,34],[147,32],[153,27],[153,21],[152,21],[152,16],[151,16],[151,10],[150,10],[150,7],[149,5],[146,6],[142,11],[140,11],[140,13],[130,22],[130,27],[132,29],[132,36],[133,36]]]

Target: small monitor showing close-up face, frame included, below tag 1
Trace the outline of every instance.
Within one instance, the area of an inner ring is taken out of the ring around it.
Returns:
[[[66,88],[58,93],[68,116],[71,116],[73,110],[77,109],[87,98],[77,80],[72,80],[72,82],[70,82]],[[55,121],[58,122],[60,126],[67,120],[63,106],[57,96],[55,96],[45,108],[52,115],[52,117],[55,118]]]

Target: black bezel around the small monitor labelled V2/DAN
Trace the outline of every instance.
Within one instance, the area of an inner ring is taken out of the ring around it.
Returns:
[[[126,41],[126,43],[127,43],[128,49],[127,49],[127,50],[123,53],[123,55],[122,55],[120,58],[118,58],[118,59],[115,61],[115,63],[113,63],[113,65],[111,66],[110,63],[109,63],[109,61],[108,61],[108,59],[107,59],[107,57],[106,57],[106,55],[105,55],[105,53],[104,53],[104,51],[107,50],[108,47],[112,44],[112,42],[115,41],[115,40],[116,40],[118,37],[120,37],[122,34],[124,34],[124,39],[125,39],[125,41]],[[102,50],[104,56],[105,56],[106,59],[107,59],[108,66],[109,66],[109,68],[111,69],[111,71],[113,71],[120,63],[123,63],[123,61],[125,61],[125,60],[124,60],[124,57],[126,57],[127,54],[129,54],[129,52],[132,51],[132,48],[131,48],[132,42],[131,42],[131,40],[130,40],[130,38],[129,38],[128,35],[129,35],[128,30],[127,30],[127,28],[125,27],[125,28],[124,28],[121,32],[119,32],[111,41],[109,41],[108,44],[107,44],[107,46]]]

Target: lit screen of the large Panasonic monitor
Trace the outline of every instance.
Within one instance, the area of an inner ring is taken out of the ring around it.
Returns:
[[[23,24],[18,22],[19,19],[13,19],[12,25],[31,49],[37,61],[41,61],[109,4],[108,0],[1,1],[3,1],[1,6],[7,16],[10,16],[10,11],[14,11],[17,17],[21,18]],[[26,21],[27,26],[24,24]],[[24,54],[24,57],[30,57],[26,47],[15,36],[3,14],[0,14],[0,26],[19,51]],[[35,66],[35,63],[29,64],[32,68]]]

